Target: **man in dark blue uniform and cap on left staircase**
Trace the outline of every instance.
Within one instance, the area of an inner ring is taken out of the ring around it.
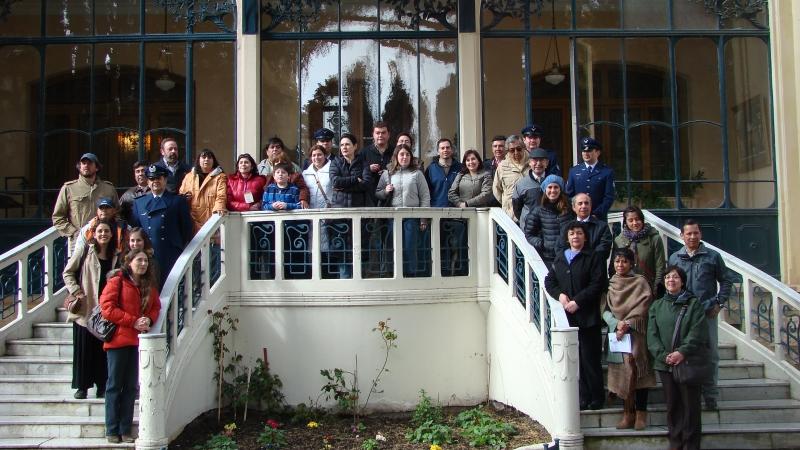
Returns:
[[[161,289],[175,261],[192,239],[192,217],[186,199],[166,190],[167,169],[152,164],[146,175],[150,193],[134,200],[131,226],[142,227],[153,243],[153,253],[161,273]]]

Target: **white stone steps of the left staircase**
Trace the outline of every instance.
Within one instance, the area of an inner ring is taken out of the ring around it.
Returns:
[[[94,390],[86,400],[72,397],[72,324],[65,317],[59,308],[59,322],[36,324],[33,337],[6,343],[0,356],[0,449],[134,448],[106,442],[105,405]]]

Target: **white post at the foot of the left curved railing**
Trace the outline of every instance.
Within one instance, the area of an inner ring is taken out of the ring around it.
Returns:
[[[167,335],[139,335],[138,450],[167,448]]]

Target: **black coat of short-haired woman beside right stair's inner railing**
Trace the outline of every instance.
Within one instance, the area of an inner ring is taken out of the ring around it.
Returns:
[[[600,255],[584,247],[569,264],[564,252],[560,252],[544,279],[544,287],[554,299],[567,294],[578,304],[574,314],[567,313],[570,325],[581,328],[600,325],[600,296],[608,287],[605,261]]]

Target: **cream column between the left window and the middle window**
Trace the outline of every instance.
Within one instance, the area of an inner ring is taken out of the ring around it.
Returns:
[[[242,3],[236,0],[237,11],[244,11]],[[256,161],[261,154],[260,74],[261,35],[242,34],[240,22],[236,27],[236,155],[250,153]]]

